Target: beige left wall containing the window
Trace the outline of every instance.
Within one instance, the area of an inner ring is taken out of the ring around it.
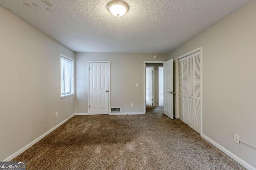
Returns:
[[[59,99],[60,53],[74,58],[0,7],[0,160],[74,113],[74,96]]]

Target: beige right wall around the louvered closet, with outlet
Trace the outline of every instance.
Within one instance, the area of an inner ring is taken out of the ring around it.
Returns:
[[[256,168],[256,1],[181,45],[175,59],[202,47],[203,134]]]

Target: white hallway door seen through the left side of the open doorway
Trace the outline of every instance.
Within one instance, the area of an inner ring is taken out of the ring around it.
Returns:
[[[146,67],[146,104],[153,106],[153,68]]]

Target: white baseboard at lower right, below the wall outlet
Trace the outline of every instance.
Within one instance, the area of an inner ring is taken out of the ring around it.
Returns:
[[[230,156],[231,158],[233,158],[234,160],[236,160],[236,162],[240,163],[242,166],[244,166],[245,168],[247,168],[248,170],[256,170],[256,168],[254,168],[253,166],[251,166],[250,164],[248,164],[247,162],[245,162],[244,160],[242,160],[241,158],[239,158],[238,156],[236,156],[235,154],[233,154],[232,152],[230,152],[229,150],[225,149],[224,147],[222,147],[221,145],[219,145],[218,143],[214,142],[212,139],[210,139],[209,137],[207,137],[204,134],[201,134],[201,137],[203,137],[204,139],[206,139],[206,141],[210,142],[212,145],[214,145],[215,147],[217,147],[218,149],[222,150],[225,154],[227,154],[228,156]]]

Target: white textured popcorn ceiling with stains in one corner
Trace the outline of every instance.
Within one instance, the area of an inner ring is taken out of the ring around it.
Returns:
[[[168,53],[251,0],[0,0],[0,6],[76,52]]]

